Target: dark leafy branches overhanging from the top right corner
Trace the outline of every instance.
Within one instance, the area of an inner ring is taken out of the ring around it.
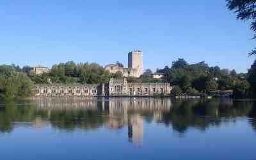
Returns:
[[[237,19],[252,20],[252,31],[256,31],[256,1],[255,0],[226,0],[229,10],[234,10],[237,13]],[[253,36],[256,38],[256,35]],[[256,54],[256,50],[248,53],[249,56]]]

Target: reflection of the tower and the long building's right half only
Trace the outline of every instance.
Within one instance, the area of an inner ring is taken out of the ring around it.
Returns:
[[[171,99],[109,99],[105,102],[112,117],[107,126],[118,129],[126,124],[128,141],[135,144],[143,143],[145,113],[152,113],[159,120],[172,106]]]

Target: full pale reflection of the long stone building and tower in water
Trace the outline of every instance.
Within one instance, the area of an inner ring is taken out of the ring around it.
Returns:
[[[60,118],[65,113],[77,116],[86,116],[84,112],[95,112],[98,120],[102,119],[102,124],[108,129],[124,129],[127,127],[128,141],[135,144],[143,143],[144,117],[148,114],[158,121],[163,118],[163,113],[168,113],[172,106],[171,99],[153,98],[113,98],[113,99],[33,99],[36,102],[38,112],[43,112],[49,120],[54,120],[54,116]],[[81,114],[75,114],[82,112]],[[100,115],[100,116],[99,116]],[[91,117],[92,118],[92,117]],[[65,120],[65,119],[64,119]],[[92,120],[93,121],[93,120]],[[35,127],[43,126],[41,118],[35,120]],[[77,122],[77,126],[83,127],[86,122]],[[54,124],[52,122],[52,125]],[[99,124],[100,125],[100,124]]]

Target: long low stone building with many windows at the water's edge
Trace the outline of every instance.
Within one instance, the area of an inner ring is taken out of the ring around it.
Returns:
[[[170,83],[128,83],[126,78],[104,84],[35,84],[34,97],[147,97],[169,95]]]

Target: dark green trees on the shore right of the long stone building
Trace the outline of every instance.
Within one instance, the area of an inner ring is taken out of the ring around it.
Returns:
[[[234,90],[236,97],[253,95],[255,88],[254,64],[248,74],[237,74],[236,70],[209,67],[204,61],[189,64],[184,59],[173,61],[172,67],[164,67],[157,72],[164,73],[164,81],[174,86],[173,93],[207,93],[212,90]],[[252,80],[250,80],[252,79]],[[254,81],[253,81],[254,80]]]

